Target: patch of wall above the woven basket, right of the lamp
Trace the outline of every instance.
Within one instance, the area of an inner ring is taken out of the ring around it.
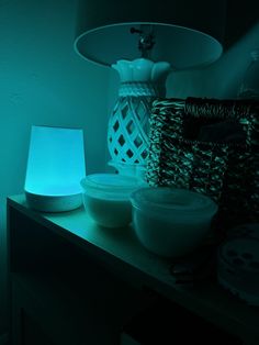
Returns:
[[[250,63],[250,52],[259,47],[258,37],[259,19],[210,67],[172,73],[168,78],[168,97],[235,98],[243,74]]]

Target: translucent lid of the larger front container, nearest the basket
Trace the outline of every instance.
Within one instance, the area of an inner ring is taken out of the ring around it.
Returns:
[[[212,216],[217,204],[209,197],[185,189],[170,187],[140,188],[131,196],[134,208],[159,214]]]

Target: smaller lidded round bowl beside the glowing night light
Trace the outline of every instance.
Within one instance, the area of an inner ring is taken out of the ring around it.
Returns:
[[[119,174],[88,175],[81,180],[85,208],[101,226],[127,226],[132,222],[130,196],[143,183],[140,179]]]

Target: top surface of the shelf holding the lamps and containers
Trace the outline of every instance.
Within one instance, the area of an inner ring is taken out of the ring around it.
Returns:
[[[249,334],[259,344],[259,308],[237,300],[217,283],[203,282],[189,288],[177,285],[169,270],[170,263],[146,251],[133,227],[100,227],[83,208],[63,213],[36,212],[27,207],[24,194],[9,197],[8,208],[14,208],[110,267],[116,267],[125,278],[147,285],[232,334],[241,338]]]

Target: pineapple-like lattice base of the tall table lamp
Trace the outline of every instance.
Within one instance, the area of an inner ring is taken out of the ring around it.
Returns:
[[[112,158],[109,165],[122,175],[144,177],[151,104],[166,93],[170,65],[139,58],[120,60],[112,67],[122,82],[109,121],[108,147]]]

